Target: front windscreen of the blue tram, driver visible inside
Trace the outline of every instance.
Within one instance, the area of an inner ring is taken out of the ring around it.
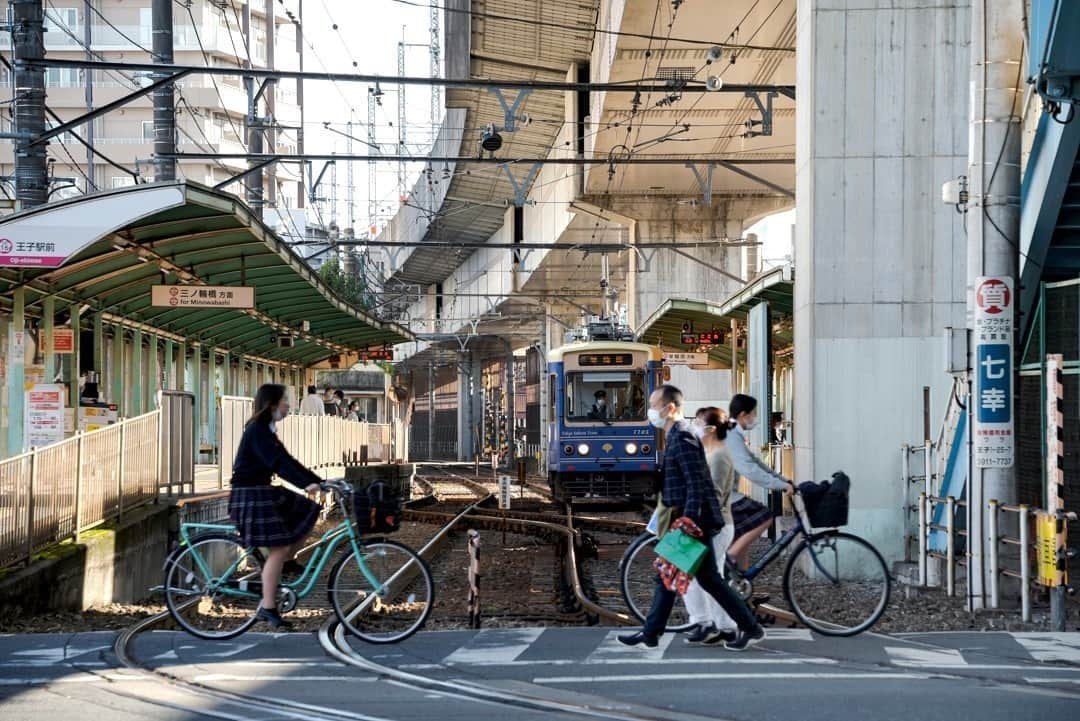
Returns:
[[[566,375],[567,421],[644,421],[645,373],[639,370]]]

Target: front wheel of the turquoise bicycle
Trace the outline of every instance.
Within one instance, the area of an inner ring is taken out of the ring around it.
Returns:
[[[434,596],[428,564],[393,541],[365,543],[359,558],[355,552],[346,554],[330,571],[334,612],[350,634],[368,643],[396,643],[418,631],[431,615]]]

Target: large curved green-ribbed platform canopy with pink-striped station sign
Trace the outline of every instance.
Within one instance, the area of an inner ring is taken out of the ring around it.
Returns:
[[[0,264],[8,266],[0,268],[4,309],[24,288],[31,316],[51,296],[109,323],[271,363],[307,366],[413,338],[337,298],[239,199],[188,181],[81,195],[3,218]],[[163,284],[251,286],[255,307],[154,307],[151,288]],[[276,340],[286,335],[292,348]]]

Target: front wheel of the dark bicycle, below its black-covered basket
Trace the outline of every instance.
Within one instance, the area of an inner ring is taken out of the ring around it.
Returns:
[[[889,569],[858,535],[824,531],[804,541],[784,570],[784,597],[804,624],[826,636],[854,636],[889,603]]]

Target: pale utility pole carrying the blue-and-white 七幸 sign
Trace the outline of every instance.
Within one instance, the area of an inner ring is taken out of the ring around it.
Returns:
[[[1025,65],[1022,28],[1022,4],[1012,0],[985,0],[971,6],[971,112],[970,112],[970,166],[968,169],[968,327],[974,335],[976,317],[976,278],[981,276],[1001,277],[1012,284],[1011,302],[1007,302],[1010,325],[1015,325],[1012,309],[1015,308],[1015,286],[1020,237],[1020,191],[1021,191],[1021,95],[1023,93],[1023,70]],[[1010,342],[1010,346],[1012,343]],[[982,355],[985,345],[972,349]],[[980,350],[976,350],[980,349]],[[989,356],[987,356],[989,358]],[[984,411],[981,392],[986,372],[983,366],[989,360],[970,357],[969,377],[973,381],[973,397],[970,413],[973,419],[971,435],[974,445],[985,439],[975,436]],[[997,539],[987,538],[985,522],[987,502],[996,500],[1001,504],[1016,502],[1015,435],[1013,413],[1013,390],[1016,387],[1015,364],[1008,358],[1009,393],[1003,399],[1007,412],[1007,432],[998,431],[996,437],[1008,437],[1014,444],[1012,453],[997,459],[989,465],[980,454],[973,453],[971,467],[971,489],[969,504],[971,527],[971,607],[986,606],[986,593],[990,579],[984,557],[984,548]],[[998,378],[989,376],[989,378]],[[997,407],[1001,410],[1001,406]],[[999,423],[998,425],[1005,425]],[[988,441],[987,441],[988,443]],[[982,467],[981,467],[982,466]],[[1005,530],[1008,533],[1009,531]]]

